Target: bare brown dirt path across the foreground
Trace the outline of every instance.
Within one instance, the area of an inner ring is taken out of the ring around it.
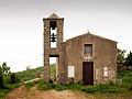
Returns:
[[[6,99],[94,99],[92,96],[88,96],[84,92],[73,90],[48,90],[41,91],[37,89],[37,85],[26,90],[24,86],[13,89],[8,94]]]

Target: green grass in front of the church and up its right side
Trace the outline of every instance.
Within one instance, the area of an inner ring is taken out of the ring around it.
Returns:
[[[92,96],[99,99],[108,99],[108,98],[132,98],[132,70],[121,70],[118,72],[118,78],[122,79],[122,85],[114,84],[110,81],[109,84],[100,84],[98,86],[84,86],[81,84],[38,84],[40,90],[78,90],[84,91],[86,94],[92,94]]]

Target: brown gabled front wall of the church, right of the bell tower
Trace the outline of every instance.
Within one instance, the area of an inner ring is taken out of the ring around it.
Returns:
[[[92,44],[92,56],[84,55],[84,44]],[[94,84],[116,81],[117,78],[117,42],[103,37],[84,34],[66,42],[66,65],[75,66],[74,81],[82,81],[82,62],[94,62]],[[109,76],[103,77],[103,67]]]

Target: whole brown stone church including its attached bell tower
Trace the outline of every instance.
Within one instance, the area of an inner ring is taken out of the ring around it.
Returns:
[[[50,57],[56,57],[56,82],[98,85],[117,80],[116,41],[88,32],[64,42],[64,18],[53,13],[43,22],[44,82],[50,82]]]

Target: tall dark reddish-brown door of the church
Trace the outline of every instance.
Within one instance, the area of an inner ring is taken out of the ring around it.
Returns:
[[[94,63],[82,63],[84,85],[94,85]]]

